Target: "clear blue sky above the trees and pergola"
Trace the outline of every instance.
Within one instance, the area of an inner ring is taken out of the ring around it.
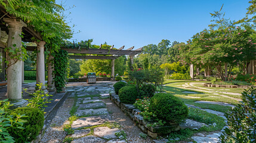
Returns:
[[[223,13],[230,20],[245,17],[249,0],[66,0],[70,26],[80,33],[78,41],[93,39],[92,44],[107,42],[125,49],[140,48],[162,39],[185,42],[208,28],[211,15],[224,4]],[[59,2],[59,1],[57,1]]]

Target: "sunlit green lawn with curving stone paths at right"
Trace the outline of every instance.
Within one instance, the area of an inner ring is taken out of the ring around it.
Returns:
[[[202,104],[202,103],[197,103],[195,101],[218,101],[218,102],[227,102],[229,104],[236,105],[236,104],[239,104],[239,101],[233,98],[240,99],[240,95],[224,94],[223,92],[232,92],[237,94],[243,91],[243,89],[225,90],[226,88],[225,89],[207,88],[207,87],[200,86],[201,84],[193,84],[193,86],[196,86],[194,88],[192,86],[189,86],[190,81],[189,82],[188,81],[185,82],[184,80],[176,80],[176,81],[177,82],[175,82],[175,80],[172,80],[172,83],[165,85],[164,91],[166,93],[175,95],[176,97],[180,98],[182,101],[184,101],[185,104],[195,105],[204,109],[211,109],[211,110],[221,111],[221,112],[226,112],[231,107],[224,106],[224,105],[215,105],[215,104]],[[200,88],[205,88],[205,89],[200,89]],[[196,92],[196,93],[192,94],[192,93],[186,93],[184,91],[190,91],[190,92]],[[220,92],[212,92],[212,91],[220,91]]]

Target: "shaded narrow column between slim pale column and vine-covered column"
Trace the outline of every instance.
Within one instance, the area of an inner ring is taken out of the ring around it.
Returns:
[[[53,73],[53,70],[54,70],[54,57],[53,55],[49,54],[49,57],[48,57],[48,91],[54,91],[55,90],[55,85],[54,85],[54,73]]]

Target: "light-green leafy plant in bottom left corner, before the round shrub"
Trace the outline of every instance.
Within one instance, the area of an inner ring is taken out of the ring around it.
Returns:
[[[14,137],[10,135],[8,130],[10,128],[16,128],[18,130],[23,130],[22,127],[26,120],[23,120],[25,116],[24,114],[16,114],[16,116],[10,115],[9,108],[13,104],[10,104],[10,101],[3,100],[0,101],[0,142],[8,142],[13,143]]]

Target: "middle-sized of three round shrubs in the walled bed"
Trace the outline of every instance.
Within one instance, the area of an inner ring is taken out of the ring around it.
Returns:
[[[119,90],[119,100],[123,103],[134,104],[137,98],[138,92],[135,86],[125,86]]]

